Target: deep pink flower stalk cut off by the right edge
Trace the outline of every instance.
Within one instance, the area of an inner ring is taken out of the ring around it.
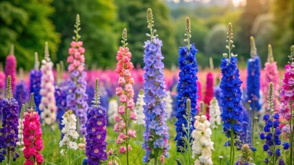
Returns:
[[[290,165],[294,164],[294,45],[291,46],[291,54],[288,56],[289,64],[285,66],[286,72],[282,80],[280,115],[286,125],[283,130],[289,137]]]

